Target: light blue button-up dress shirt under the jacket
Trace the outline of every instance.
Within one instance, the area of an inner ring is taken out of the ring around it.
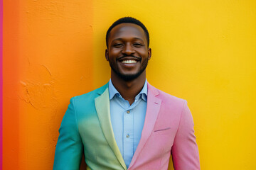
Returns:
[[[114,88],[111,79],[109,91],[110,118],[114,138],[128,168],[142,136],[146,115],[147,81],[145,81],[142,91],[135,97],[132,105],[122,98],[121,94]]]

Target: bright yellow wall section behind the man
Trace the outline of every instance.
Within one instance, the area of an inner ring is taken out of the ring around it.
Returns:
[[[95,88],[110,74],[105,30],[122,16],[139,18],[151,40],[147,79],[188,101],[201,169],[256,169],[256,1],[95,1],[94,6]]]

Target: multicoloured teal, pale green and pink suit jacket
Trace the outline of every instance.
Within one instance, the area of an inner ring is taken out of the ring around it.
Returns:
[[[124,170],[110,120],[108,84],[71,98],[60,125],[54,170],[78,170],[85,154],[87,170]],[[147,108],[139,145],[128,170],[197,170],[198,147],[186,101],[148,84]]]

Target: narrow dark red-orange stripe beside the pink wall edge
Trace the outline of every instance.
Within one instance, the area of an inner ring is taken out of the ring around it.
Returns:
[[[3,2],[3,169],[18,169],[19,4]]]

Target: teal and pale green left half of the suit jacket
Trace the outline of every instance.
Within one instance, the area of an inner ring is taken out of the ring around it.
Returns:
[[[107,87],[71,98],[60,125],[54,170],[78,170],[82,151],[87,170],[127,169],[114,140]]]

